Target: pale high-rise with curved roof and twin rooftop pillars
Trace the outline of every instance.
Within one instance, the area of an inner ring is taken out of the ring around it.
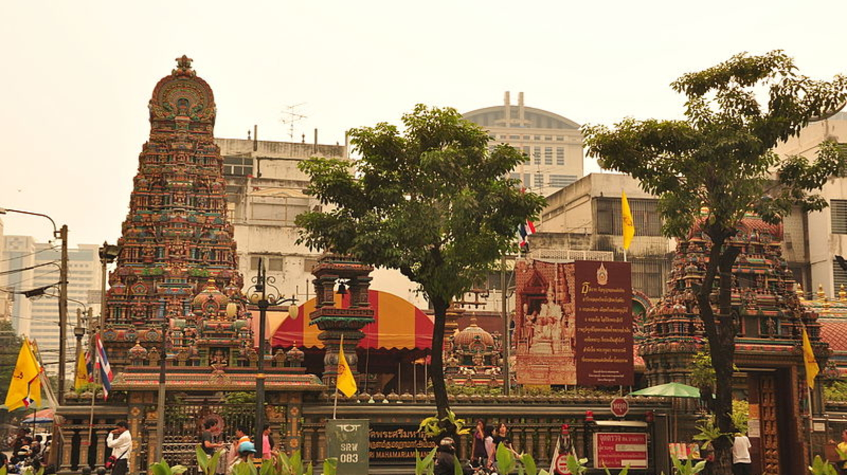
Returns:
[[[583,141],[579,124],[539,108],[523,104],[523,92],[518,93],[518,105],[512,105],[509,92],[503,105],[481,108],[462,114],[479,124],[497,143],[514,146],[526,156],[526,161],[512,170],[512,178],[542,196],[570,185],[583,176]]]

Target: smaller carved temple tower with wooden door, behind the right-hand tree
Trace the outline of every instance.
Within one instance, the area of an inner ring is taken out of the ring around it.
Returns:
[[[820,367],[825,367],[829,356],[828,345],[820,337],[817,313],[803,307],[796,293],[794,277],[783,259],[782,237],[781,225],[748,215],[730,242],[740,248],[733,269],[733,311],[739,322],[733,393],[735,399],[750,404],[754,472],[774,475],[800,473],[808,465],[804,456],[811,414],[801,346],[804,327]],[[667,292],[648,313],[639,353],[651,385],[691,383],[692,357],[706,342],[695,286],[706,274],[710,249],[711,241],[696,227],[687,239],[680,240]],[[818,414],[822,410],[821,384],[811,395]],[[694,406],[689,404],[687,409]],[[693,411],[688,412],[690,416]],[[685,425],[685,417],[682,419],[680,425]],[[694,430],[694,417],[687,421],[689,427],[680,427],[680,434]]]

